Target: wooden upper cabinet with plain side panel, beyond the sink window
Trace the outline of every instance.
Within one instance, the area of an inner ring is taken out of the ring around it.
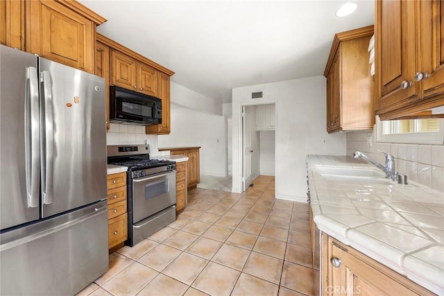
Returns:
[[[375,123],[368,44],[373,26],[334,35],[325,66],[327,132],[369,130]]]

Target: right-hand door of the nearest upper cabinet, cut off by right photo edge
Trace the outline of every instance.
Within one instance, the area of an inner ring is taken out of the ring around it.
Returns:
[[[420,80],[422,98],[428,98],[444,92],[444,3],[419,3],[421,69],[417,71],[429,76]]]

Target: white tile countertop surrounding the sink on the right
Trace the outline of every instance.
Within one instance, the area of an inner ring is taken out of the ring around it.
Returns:
[[[311,209],[316,226],[417,284],[444,295],[444,193],[409,180],[407,185],[401,185],[381,177],[369,177],[366,182],[357,180],[359,177],[335,180],[321,174],[330,168],[346,171],[375,166],[346,156],[308,155]]]

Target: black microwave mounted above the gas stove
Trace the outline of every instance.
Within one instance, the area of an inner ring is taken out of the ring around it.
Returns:
[[[111,85],[110,122],[137,125],[162,123],[162,100]]]

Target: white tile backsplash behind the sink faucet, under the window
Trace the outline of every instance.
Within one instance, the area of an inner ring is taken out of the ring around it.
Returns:
[[[384,164],[382,150],[395,157],[395,170],[409,180],[444,191],[444,146],[401,143],[375,143],[373,131],[347,133],[347,155],[356,150]]]

